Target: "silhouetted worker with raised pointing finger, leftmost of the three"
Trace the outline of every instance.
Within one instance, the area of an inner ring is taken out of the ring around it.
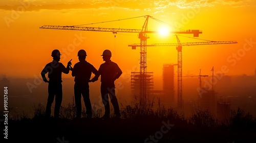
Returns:
[[[55,97],[55,107],[54,107],[54,117],[59,117],[59,108],[62,101],[62,80],[61,75],[69,74],[71,60],[68,62],[67,67],[65,67],[60,60],[60,52],[58,50],[52,51],[53,61],[46,64],[45,68],[41,71],[42,80],[48,82],[48,100],[46,105],[46,117],[51,116],[51,107]],[[46,78],[48,73],[49,81]]]

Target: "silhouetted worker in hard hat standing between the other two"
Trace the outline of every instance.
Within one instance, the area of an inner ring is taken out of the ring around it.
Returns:
[[[95,82],[98,80],[99,72],[98,70],[89,62],[86,61],[87,53],[84,50],[79,50],[77,53],[79,62],[74,65],[74,68],[71,67],[72,76],[75,77],[75,104],[76,104],[76,117],[81,117],[81,95],[86,106],[87,117],[92,117],[92,105],[90,101],[89,94],[89,82]],[[92,73],[95,75],[91,79]]]

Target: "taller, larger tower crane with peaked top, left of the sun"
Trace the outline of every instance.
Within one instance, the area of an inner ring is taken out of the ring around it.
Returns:
[[[58,29],[58,30],[81,30],[81,31],[97,31],[97,32],[112,32],[116,34],[117,32],[125,32],[125,33],[138,33],[138,38],[140,39],[140,105],[145,105],[146,99],[146,42],[149,38],[147,34],[149,33],[159,33],[158,31],[148,31],[148,18],[152,18],[154,20],[160,21],[156,18],[153,18],[150,15],[138,16],[138,17],[145,17],[146,20],[142,29],[120,29],[120,28],[96,28],[96,27],[81,27],[81,26],[52,26],[52,25],[44,25],[41,26],[41,29]],[[132,17],[132,18],[138,18]],[[131,19],[131,18],[126,18]],[[125,20],[125,19],[118,19],[118,20]],[[118,21],[112,20],[112,21]],[[111,22],[112,22],[111,21]],[[110,22],[110,21],[105,21]],[[103,23],[103,22],[97,22]],[[90,23],[94,24],[94,23]],[[198,37],[199,34],[202,34],[202,31],[199,30],[180,30],[180,31],[173,31],[169,32],[173,34],[193,34],[194,37]]]

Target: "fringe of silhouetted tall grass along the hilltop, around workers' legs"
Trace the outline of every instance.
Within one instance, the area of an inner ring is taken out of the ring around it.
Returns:
[[[122,105],[122,104],[121,104]],[[9,109],[10,112],[12,109]],[[113,112],[113,110],[111,110]],[[126,105],[120,108],[121,117],[123,119],[134,119],[137,118],[162,118],[163,120],[168,118],[173,121],[180,121],[184,124],[193,124],[198,127],[219,127],[223,126],[221,122],[217,120],[216,116],[210,111],[196,109],[191,116],[184,117],[184,114],[178,113],[174,108],[165,108],[163,105],[155,104],[154,101],[147,101],[147,105],[140,106],[135,104],[134,106]],[[93,118],[99,118],[102,116],[102,109],[96,108],[96,105],[92,107]],[[0,112],[0,118],[4,119],[3,111]],[[42,118],[45,116],[45,107],[42,104],[34,105],[34,114],[33,118]],[[60,108],[60,118],[65,118],[72,120],[76,116],[76,107],[74,102],[68,104],[67,107],[61,106]],[[83,108],[81,117],[86,117],[86,109]],[[22,114],[16,113],[12,117],[12,120],[25,120],[27,115],[23,112]],[[241,108],[237,110],[231,110],[231,116],[227,121],[229,124],[225,124],[225,127],[236,130],[256,130],[256,118],[253,117],[250,113],[246,113]]]

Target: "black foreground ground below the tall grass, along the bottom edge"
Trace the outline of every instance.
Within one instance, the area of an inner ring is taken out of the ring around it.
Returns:
[[[2,127],[1,125],[1,130]],[[237,143],[256,142],[256,131],[243,131],[228,127],[198,127],[184,121],[151,117],[110,120],[33,118],[22,121],[10,120],[8,122],[8,139],[4,139],[4,142]]]

